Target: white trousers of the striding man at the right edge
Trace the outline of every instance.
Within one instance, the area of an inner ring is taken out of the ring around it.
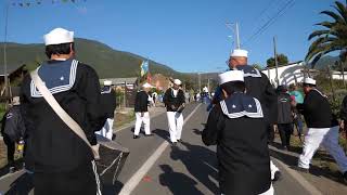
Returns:
[[[298,167],[309,169],[311,159],[323,145],[330,155],[336,160],[342,172],[347,171],[347,157],[338,145],[338,126],[332,128],[309,128],[305,135],[303,154],[299,156]]]

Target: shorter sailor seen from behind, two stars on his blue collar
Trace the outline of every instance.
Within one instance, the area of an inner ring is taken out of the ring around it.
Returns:
[[[220,74],[224,100],[211,109],[202,138],[217,144],[219,187],[226,195],[272,195],[267,128],[260,102],[244,93],[244,74]]]

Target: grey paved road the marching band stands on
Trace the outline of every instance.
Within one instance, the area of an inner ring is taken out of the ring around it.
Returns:
[[[216,147],[207,147],[201,141],[201,130],[207,119],[206,106],[198,104],[190,104],[184,109],[184,117],[189,116],[193,110],[190,119],[185,121],[183,128],[183,142],[177,148],[171,146],[163,147],[164,143],[168,143],[169,133],[167,131],[166,115],[159,115],[151,120],[151,129],[154,136],[141,136],[138,140],[132,139],[132,127],[117,132],[117,141],[128,147],[130,155],[118,178],[115,192],[119,192],[121,187],[138,172],[143,165],[147,165],[149,158],[158,148],[165,148],[159,154],[158,159],[154,160],[154,165],[149,167],[144,177],[140,178],[139,184],[134,185],[132,195],[145,194],[218,194],[217,180],[217,159],[215,155]],[[165,144],[164,144],[165,146]],[[281,168],[281,166],[280,166]],[[283,169],[283,180],[274,184],[277,195],[306,195],[309,194],[291,174]],[[21,173],[16,173],[16,177]],[[8,186],[15,180],[11,177],[0,181],[0,192],[4,194]],[[21,178],[25,181],[27,178]],[[129,183],[128,183],[129,184]],[[28,186],[29,187],[29,186]],[[27,188],[28,188],[27,187]]]

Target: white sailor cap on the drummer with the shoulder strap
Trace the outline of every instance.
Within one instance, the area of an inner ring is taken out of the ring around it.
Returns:
[[[74,42],[74,31],[68,31],[64,28],[55,28],[44,35],[43,39],[46,46]]]

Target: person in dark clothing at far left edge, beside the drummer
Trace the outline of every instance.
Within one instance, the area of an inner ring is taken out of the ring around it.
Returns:
[[[15,143],[23,140],[25,126],[20,110],[20,96],[14,96],[12,107],[3,115],[1,134],[8,147],[9,172],[15,171],[14,153]]]

